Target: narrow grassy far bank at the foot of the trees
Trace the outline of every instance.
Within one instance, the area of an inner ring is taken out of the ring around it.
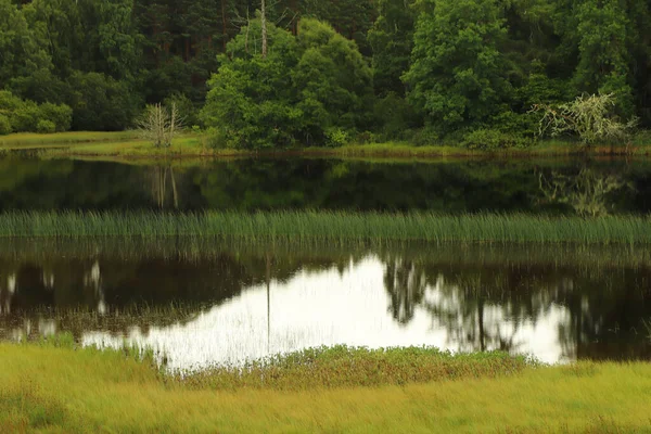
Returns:
[[[29,150],[42,157],[79,158],[179,158],[233,157],[259,155],[305,155],[333,157],[487,157],[487,156],[646,156],[651,155],[651,142],[637,139],[629,144],[595,145],[585,148],[576,142],[546,140],[526,149],[496,151],[469,150],[456,145],[414,146],[408,142],[349,144],[342,148],[297,148],[273,151],[213,150],[205,145],[205,137],[186,133],[169,149],[156,149],[138,138],[136,131],[123,132],[63,132],[55,135],[16,133],[0,137],[0,150]]]

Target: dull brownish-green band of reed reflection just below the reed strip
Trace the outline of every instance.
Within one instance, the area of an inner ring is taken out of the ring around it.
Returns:
[[[87,238],[7,238],[0,243],[0,261],[53,263],[69,259],[158,259],[202,263],[225,255],[288,261],[301,258],[347,260],[369,255],[400,257],[426,264],[480,266],[651,267],[651,250],[628,244],[534,244],[534,243],[447,243],[444,248],[421,241],[369,241],[332,243],[328,240],[258,240],[214,237],[87,237]]]

